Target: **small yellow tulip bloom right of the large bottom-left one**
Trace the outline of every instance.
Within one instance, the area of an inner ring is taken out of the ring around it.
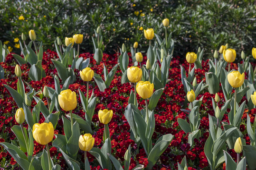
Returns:
[[[95,139],[91,134],[81,135],[79,137],[78,145],[82,151],[90,151],[94,146]]]

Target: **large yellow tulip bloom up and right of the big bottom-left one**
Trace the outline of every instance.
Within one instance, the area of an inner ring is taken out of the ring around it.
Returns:
[[[77,105],[76,92],[72,92],[70,89],[63,90],[58,95],[59,105],[63,110],[74,110]]]

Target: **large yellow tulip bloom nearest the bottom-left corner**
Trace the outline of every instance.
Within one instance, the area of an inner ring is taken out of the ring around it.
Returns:
[[[35,123],[32,132],[37,143],[43,145],[51,142],[54,136],[54,128],[51,122],[41,124]]]

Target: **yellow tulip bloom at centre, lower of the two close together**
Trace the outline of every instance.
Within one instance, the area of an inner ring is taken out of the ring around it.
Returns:
[[[148,99],[152,96],[153,91],[154,91],[154,84],[150,83],[149,81],[140,81],[136,85],[136,91],[137,93],[143,98],[143,99]]]

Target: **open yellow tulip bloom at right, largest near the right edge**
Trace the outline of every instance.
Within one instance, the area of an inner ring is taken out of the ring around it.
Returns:
[[[245,81],[245,73],[240,74],[239,71],[232,71],[228,74],[228,83],[234,87],[240,87]]]

